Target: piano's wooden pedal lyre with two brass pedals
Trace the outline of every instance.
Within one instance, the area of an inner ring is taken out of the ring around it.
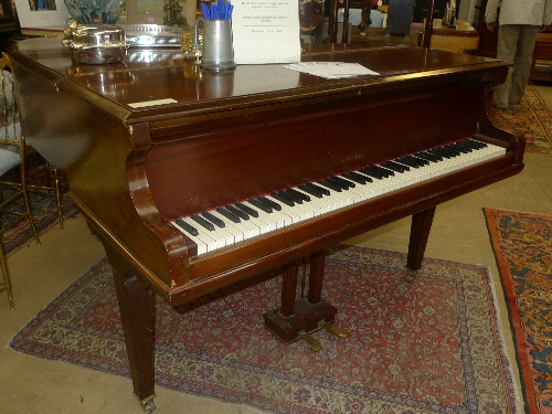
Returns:
[[[335,328],[331,323],[337,309],[321,299],[323,279],[322,252],[312,254],[309,258],[309,293],[308,298],[296,298],[297,263],[289,263],[283,269],[282,306],[263,315],[265,327],[284,343],[298,339],[306,340],[316,352],[321,349],[320,342],[309,333],[325,328],[339,338],[344,338],[346,330]]]

